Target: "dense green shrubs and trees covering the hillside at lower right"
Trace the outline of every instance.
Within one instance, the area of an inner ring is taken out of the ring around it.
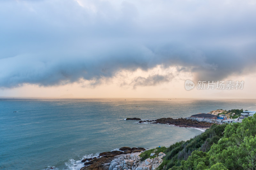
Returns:
[[[256,115],[242,123],[214,124],[201,135],[167,148],[158,169],[256,170],[255,135]]]

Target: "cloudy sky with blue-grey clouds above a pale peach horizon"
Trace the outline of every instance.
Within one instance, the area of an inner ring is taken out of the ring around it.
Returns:
[[[0,96],[255,99],[255,18],[256,0],[0,1]]]

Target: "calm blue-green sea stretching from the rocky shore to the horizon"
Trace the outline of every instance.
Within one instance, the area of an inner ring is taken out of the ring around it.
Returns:
[[[0,99],[0,169],[76,170],[82,158],[122,146],[169,146],[202,131],[124,119],[184,118],[219,108],[256,110],[256,100]]]

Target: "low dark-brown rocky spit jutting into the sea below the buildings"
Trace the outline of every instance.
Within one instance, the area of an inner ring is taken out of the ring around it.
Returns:
[[[126,120],[140,120],[138,123],[160,123],[160,124],[169,124],[179,127],[187,127],[187,128],[210,128],[214,123],[217,124],[218,122],[213,119],[197,119],[197,118],[178,118],[172,119],[171,117],[168,118],[160,118],[156,120],[144,120],[142,121],[140,118],[127,118]]]

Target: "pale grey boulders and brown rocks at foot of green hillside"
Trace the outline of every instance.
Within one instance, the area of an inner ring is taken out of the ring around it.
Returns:
[[[162,162],[165,154],[152,153],[154,158],[141,161],[140,154],[146,149],[141,147],[121,147],[119,151],[102,152],[96,158],[83,159],[80,170],[154,170]]]

